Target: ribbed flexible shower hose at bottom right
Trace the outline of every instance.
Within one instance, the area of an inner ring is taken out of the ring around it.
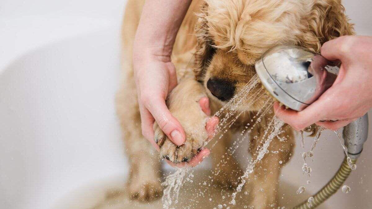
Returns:
[[[312,196],[314,197],[314,200],[311,202],[311,204],[307,200],[305,200],[303,203],[299,204],[294,208],[298,209],[316,208],[325,200],[327,200],[330,196],[336,193],[337,190],[339,190],[342,184],[345,182],[347,177],[349,177],[352,171],[349,168],[346,159],[347,158],[345,157],[343,163],[341,164],[339,170],[333,176],[333,178],[321,190],[319,190],[316,194],[314,194],[314,196]],[[352,159],[352,163],[355,164],[355,162],[356,159]]]

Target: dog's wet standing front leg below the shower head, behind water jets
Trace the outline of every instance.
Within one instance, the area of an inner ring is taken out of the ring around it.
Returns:
[[[257,125],[252,131],[249,150],[253,159],[257,158],[258,150],[268,137],[268,134],[265,135],[267,122],[267,118],[263,117],[261,124]],[[279,206],[278,181],[280,171],[283,165],[289,161],[295,144],[294,134],[289,125],[285,124],[282,130],[284,132],[274,136],[267,149],[269,152],[256,163],[253,173],[247,178],[249,186],[245,189],[250,194],[251,205],[254,208],[277,208]]]

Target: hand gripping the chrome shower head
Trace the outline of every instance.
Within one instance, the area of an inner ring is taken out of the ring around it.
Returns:
[[[313,123],[337,130],[372,107],[372,37],[341,36],[324,43],[321,55],[327,60],[341,61],[333,85],[300,112],[274,104],[275,115],[296,130]]]

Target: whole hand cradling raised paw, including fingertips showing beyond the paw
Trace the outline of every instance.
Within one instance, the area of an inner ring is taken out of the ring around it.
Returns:
[[[165,63],[163,61],[164,60],[160,60],[160,62],[134,62],[138,104],[141,112],[142,134],[157,150],[159,150],[159,146],[154,141],[153,130],[153,123],[155,120],[164,134],[166,134],[174,144],[182,145],[186,138],[181,124],[171,115],[165,103],[167,95],[177,85],[177,78],[176,70],[174,65],[170,62],[170,59]],[[149,65],[153,70],[149,71],[148,69],[151,68],[142,67],[143,65]],[[141,72],[141,69],[147,69],[147,71]],[[209,116],[211,114],[209,99],[207,97],[201,98],[199,100],[199,105],[206,115]],[[208,133],[208,139],[214,135],[214,127],[217,123],[217,117],[210,118],[206,123],[205,129]],[[183,138],[179,138],[178,134],[172,134],[173,131],[180,132]],[[209,153],[209,149],[202,149],[187,163],[187,165],[191,167],[198,165]],[[167,162],[173,167],[183,167],[186,165],[186,163],[174,164],[171,161]]]

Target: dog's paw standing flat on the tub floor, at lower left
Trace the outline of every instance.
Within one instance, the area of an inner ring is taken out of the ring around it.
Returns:
[[[150,202],[162,196],[163,188],[160,181],[135,179],[129,180],[128,192],[131,199]]]

